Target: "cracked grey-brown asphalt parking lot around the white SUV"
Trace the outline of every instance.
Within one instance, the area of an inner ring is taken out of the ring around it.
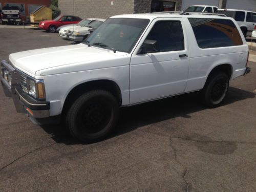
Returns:
[[[22,26],[0,33],[0,60],[72,44]],[[122,108],[116,131],[93,144],[34,125],[0,86],[0,191],[256,191],[256,62],[248,66],[219,108],[197,93]]]

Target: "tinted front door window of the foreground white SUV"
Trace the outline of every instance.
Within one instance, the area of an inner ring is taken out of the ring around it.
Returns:
[[[184,37],[180,21],[157,22],[146,39],[157,41],[158,52],[184,50]]]

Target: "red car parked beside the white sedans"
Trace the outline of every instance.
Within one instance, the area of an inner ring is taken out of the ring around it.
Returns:
[[[82,19],[73,15],[60,15],[53,20],[44,20],[39,23],[39,28],[54,33],[62,25],[77,24]]]

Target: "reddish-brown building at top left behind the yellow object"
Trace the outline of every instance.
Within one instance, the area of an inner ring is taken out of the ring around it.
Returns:
[[[33,12],[38,7],[42,5],[49,7],[51,5],[51,0],[0,0],[0,10],[8,5],[18,6],[20,8],[22,20],[26,20],[29,13]]]

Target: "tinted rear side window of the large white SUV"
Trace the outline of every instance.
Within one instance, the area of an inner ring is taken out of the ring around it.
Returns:
[[[202,49],[243,45],[237,27],[229,19],[188,18]]]

